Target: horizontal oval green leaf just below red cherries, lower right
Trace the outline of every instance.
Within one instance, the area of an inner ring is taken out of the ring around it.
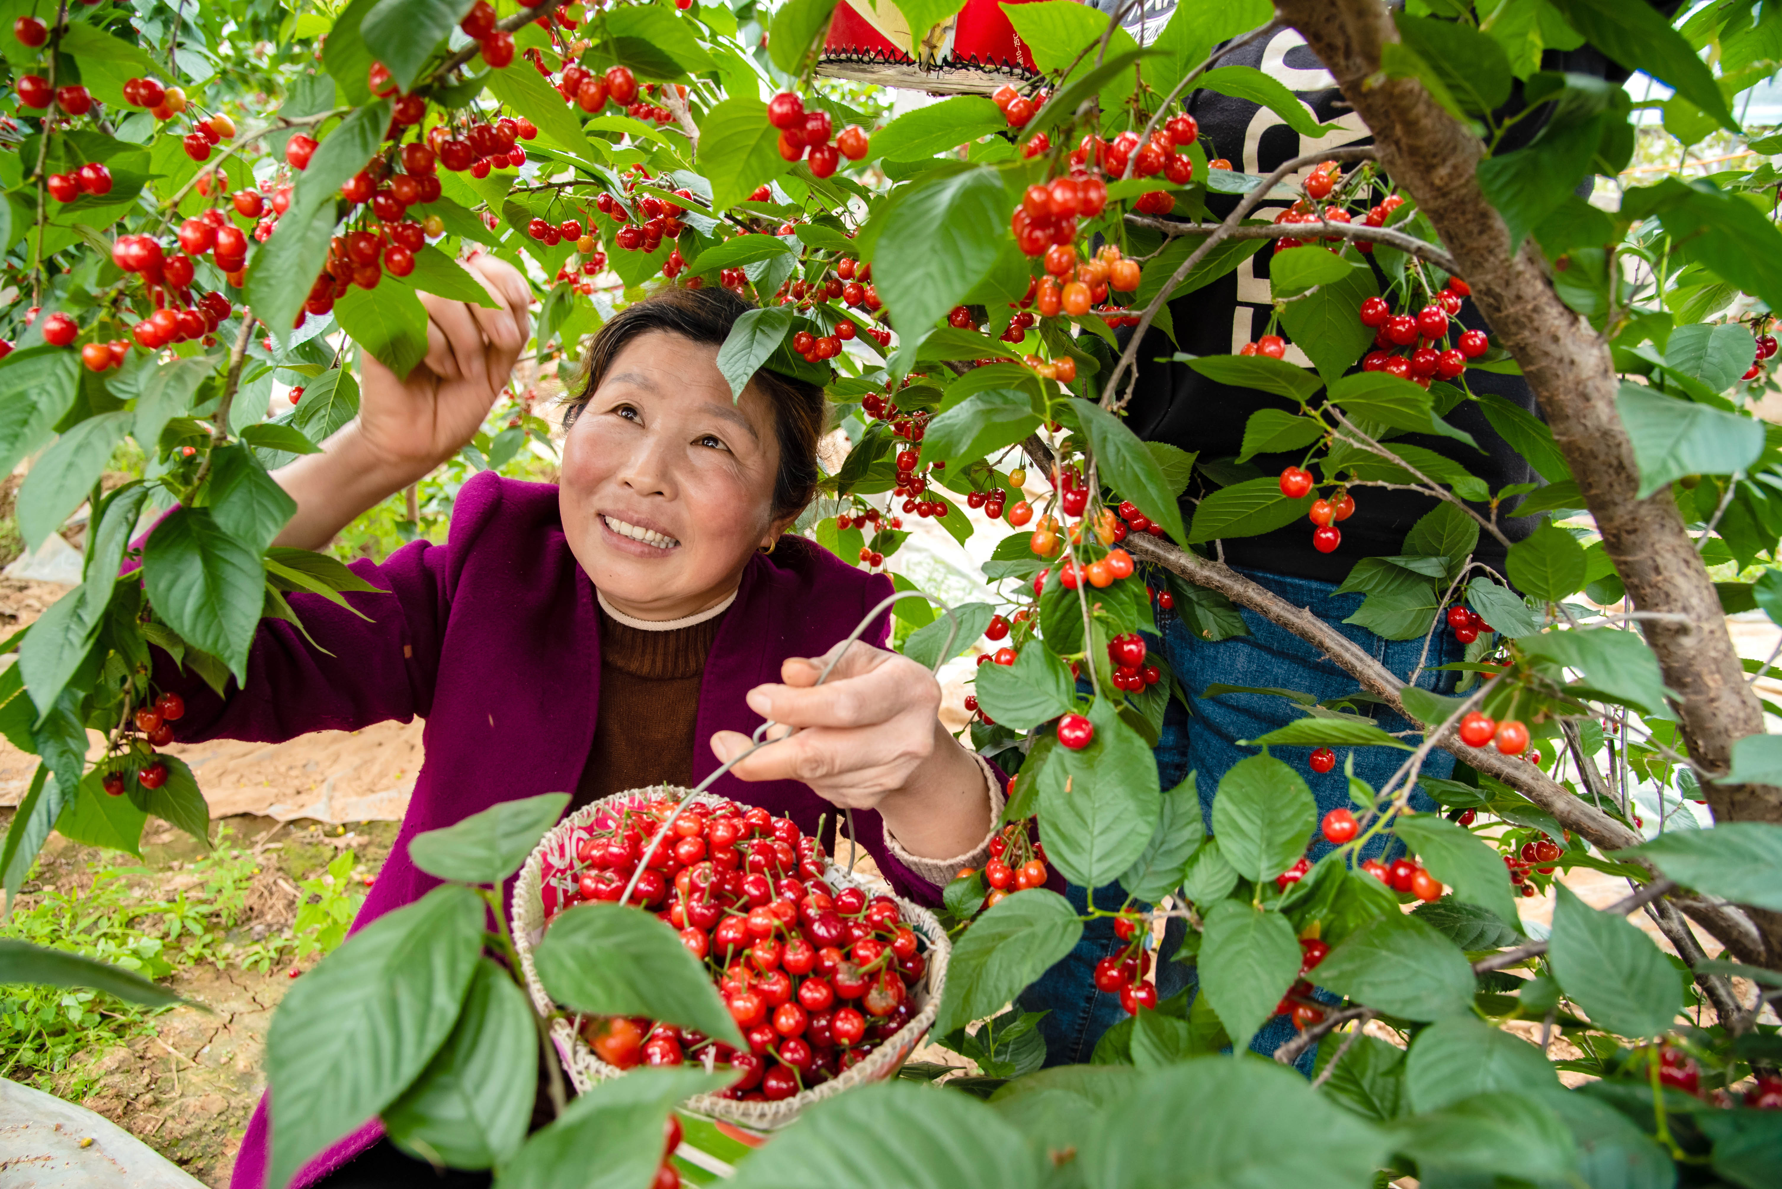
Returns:
[[[1467,956],[1417,917],[1397,911],[1367,922],[1326,954],[1319,984],[1406,1020],[1472,1011]]]

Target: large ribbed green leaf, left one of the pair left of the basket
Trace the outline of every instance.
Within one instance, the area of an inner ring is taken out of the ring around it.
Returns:
[[[290,984],[267,1031],[271,1184],[390,1105],[451,1034],[485,906],[446,885],[355,933]]]

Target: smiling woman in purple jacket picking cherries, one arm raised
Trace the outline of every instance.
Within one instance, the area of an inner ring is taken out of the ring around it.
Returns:
[[[358,420],[276,472],[298,502],[280,543],[324,545],[481,424],[527,338],[526,285],[488,256],[469,269],[490,303],[426,295],[424,361],[397,377],[367,356]],[[823,395],[761,370],[732,399],[718,347],[748,308],[670,288],[620,311],[590,345],[561,484],[478,475],[446,545],[356,562],[351,607],[294,594],[303,628],[264,619],[244,689],[217,696],[157,655],[157,687],[185,698],[180,740],[426,717],[408,815],[355,929],[437,883],[408,858],[417,833],[542,792],[570,790],[574,808],[691,785],[766,719],[798,732],[713,792],[830,844],[836,808],[854,810],[859,845],[920,901],[982,865],[1001,774],[946,733],[934,676],[884,648],[884,612],[816,687],[891,582],[782,536],[816,489]],[[661,908],[666,881],[640,881],[638,899]],[[262,1104],[235,1184],[264,1178],[266,1137]],[[401,1182],[406,1161],[372,1123],[298,1184]]]

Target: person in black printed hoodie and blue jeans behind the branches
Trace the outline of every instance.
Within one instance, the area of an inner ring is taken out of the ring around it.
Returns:
[[[1101,11],[1117,11],[1121,0],[1089,0]],[[1146,30],[1146,41],[1164,28],[1171,16],[1173,0],[1144,0],[1133,5],[1124,18],[1133,32],[1139,25]],[[1249,174],[1269,174],[1281,164],[1317,153],[1353,144],[1367,144],[1370,133],[1361,119],[1349,110],[1336,89],[1335,80],[1317,61],[1304,39],[1292,28],[1279,28],[1267,37],[1258,37],[1247,44],[1238,44],[1233,52],[1219,59],[1221,66],[1255,66],[1269,77],[1279,80],[1306,105],[1320,123],[1336,125],[1333,132],[1319,139],[1304,137],[1281,121],[1267,107],[1249,100],[1238,100],[1214,91],[1192,91],[1183,107],[1199,123],[1199,139],[1208,158],[1224,157],[1233,169]],[[1570,52],[1549,50],[1541,62],[1543,69],[1563,69],[1588,73],[1611,82],[1623,82],[1627,69],[1609,62],[1591,46],[1579,46]],[[1520,84],[1516,84],[1511,105],[1520,107]],[[1540,116],[1520,121],[1504,137],[1499,151],[1509,151],[1527,144],[1540,130]],[[1310,167],[1308,167],[1310,171]],[[1296,185],[1304,174],[1287,178],[1287,185]],[[1582,178],[1579,192],[1590,194],[1591,178]],[[1222,219],[1235,206],[1235,196],[1214,194],[1208,208],[1212,219]],[[1271,219],[1288,199],[1269,199],[1255,210],[1255,217]],[[1185,363],[1173,361],[1180,351],[1187,356],[1224,356],[1237,354],[1244,344],[1255,342],[1269,329],[1272,294],[1269,288],[1269,260],[1272,246],[1263,247],[1246,258],[1237,271],[1217,281],[1205,285],[1192,294],[1178,297],[1169,304],[1176,342],[1162,331],[1151,329],[1137,352],[1139,381],[1126,422],[1146,441],[1164,441],[1199,457],[1194,482],[1183,498],[1183,523],[1192,516],[1187,497],[1199,497],[1214,489],[1212,475],[1221,481],[1253,475],[1274,475],[1288,465],[1299,463],[1299,454],[1263,454],[1247,461],[1246,468],[1235,465],[1240,452],[1244,425],[1253,413],[1265,408],[1294,411],[1290,400],[1274,397],[1253,388],[1233,388],[1212,381]],[[1385,287],[1383,287],[1385,288]],[[1415,310],[1411,311],[1415,313]],[[1484,326],[1472,303],[1465,303],[1458,320],[1467,329],[1490,329]],[[1123,344],[1124,347],[1124,336]],[[1288,344],[1290,363],[1303,367],[1310,360]],[[1500,397],[1516,409],[1540,417],[1534,393],[1520,376],[1499,376],[1483,370],[1468,370],[1467,386],[1475,393]],[[1492,491],[1508,484],[1541,482],[1527,457],[1518,454],[1484,418],[1477,404],[1463,402],[1447,415],[1449,424],[1467,431],[1479,443],[1474,450],[1451,438],[1408,434],[1394,441],[1413,443],[1447,457],[1452,457],[1468,472],[1486,482]],[[1247,470],[1253,468],[1253,470]],[[1208,470],[1212,475],[1208,475]],[[1408,641],[1390,641],[1374,632],[1344,623],[1361,605],[1361,594],[1336,594],[1338,586],[1349,577],[1356,561],[1374,555],[1397,555],[1406,552],[1404,538],[1411,525],[1436,506],[1435,497],[1415,491],[1388,491],[1383,488],[1356,488],[1353,491],[1354,514],[1342,522],[1342,543],[1335,552],[1322,554],[1312,546],[1312,523],[1297,522],[1274,532],[1253,538],[1231,538],[1217,543],[1219,555],[1247,578],[1279,594],[1296,607],[1308,607],[1331,628],[1361,644],[1376,660],[1410,678],[1418,671],[1417,683],[1436,692],[1451,694],[1459,673],[1440,671],[1438,666],[1461,660],[1463,644],[1454,634],[1440,627],[1424,655],[1424,637],[1418,634]],[[1484,511],[1481,507],[1481,511]],[[1511,539],[1522,539],[1534,529],[1534,520],[1504,518],[1499,525]],[[1506,546],[1492,534],[1481,534],[1472,554],[1474,561],[1504,573]],[[1153,580],[1157,584],[1157,580]],[[1237,740],[1256,739],[1285,723],[1301,717],[1297,707],[1276,694],[1221,692],[1206,696],[1212,685],[1240,685],[1251,689],[1292,689],[1312,694],[1319,700],[1340,698],[1358,692],[1358,682],[1317,648],[1297,635],[1269,623],[1255,612],[1242,612],[1244,635],[1212,634],[1196,635],[1185,627],[1180,614],[1158,612],[1162,639],[1151,639],[1151,648],[1160,650],[1176,676],[1181,678],[1189,694],[1189,712],[1171,701],[1169,717],[1164,723],[1162,739],[1157,748],[1158,776],[1165,789],[1174,787],[1190,771],[1196,774],[1196,787],[1206,813],[1208,828],[1212,821],[1212,801],[1221,778],[1238,760],[1258,755],[1258,748],[1242,748]],[[1399,716],[1360,703],[1354,707],[1361,714],[1372,714],[1381,728],[1388,732],[1411,730],[1411,723]],[[1349,787],[1344,765],[1338,762],[1331,771],[1317,772],[1310,765],[1310,748],[1271,748],[1271,755],[1285,760],[1299,771],[1312,787],[1319,803],[1319,815],[1349,803]],[[1354,774],[1379,789],[1399,765],[1399,753],[1383,748],[1361,748],[1353,753]],[[1454,769],[1454,758],[1445,751],[1435,751],[1424,764],[1422,774],[1445,778]],[[1417,792],[1413,805],[1420,810],[1433,810],[1435,803]],[[1331,847],[1320,835],[1313,835],[1312,860],[1315,861]],[[1069,890],[1073,901],[1082,906],[1085,895],[1082,888]],[[1096,904],[1117,904],[1124,899],[1119,888],[1103,888],[1096,894]],[[1169,961],[1180,936],[1181,922],[1174,936],[1165,938],[1158,963],[1158,995],[1167,999],[1181,986],[1194,984],[1192,970]],[[1098,993],[1092,975],[1099,959],[1117,954],[1124,942],[1114,936],[1110,918],[1092,920],[1076,950],[1059,961],[1028,991],[1021,995],[1021,1007],[1026,1011],[1046,1011],[1041,1022],[1048,1047],[1048,1064],[1067,1064],[1089,1061],[1101,1034],[1124,1018],[1124,1011],[1114,995]],[[1294,1034],[1288,1016],[1274,1016],[1251,1043],[1260,1054],[1272,1054]],[[1301,1068],[1310,1073],[1315,1050],[1301,1057]]]

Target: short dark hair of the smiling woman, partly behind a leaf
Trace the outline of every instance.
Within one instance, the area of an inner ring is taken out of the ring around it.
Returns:
[[[563,429],[576,424],[613,360],[638,335],[670,331],[697,344],[722,347],[736,319],[754,310],[727,288],[666,287],[625,306],[588,344],[581,383],[565,399]],[[816,440],[823,436],[823,390],[802,379],[761,368],[750,381],[773,408],[779,473],[773,477],[773,516],[791,516],[816,495]]]

